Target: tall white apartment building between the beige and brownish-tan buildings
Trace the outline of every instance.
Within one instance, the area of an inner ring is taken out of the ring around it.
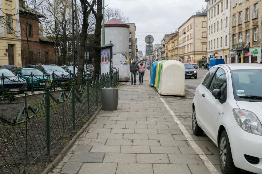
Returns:
[[[206,0],[207,9],[207,61],[211,59],[224,59],[224,0]],[[227,26],[227,25],[226,25]],[[228,28],[228,26],[227,26]],[[226,52],[225,52],[226,53]]]

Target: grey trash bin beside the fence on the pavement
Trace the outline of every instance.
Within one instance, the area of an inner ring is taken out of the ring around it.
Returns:
[[[102,88],[101,102],[103,110],[117,110],[118,88]]]

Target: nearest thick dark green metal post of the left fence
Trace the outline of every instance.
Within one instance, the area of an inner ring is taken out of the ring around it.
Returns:
[[[50,155],[50,90],[46,86],[46,149],[47,155]]]

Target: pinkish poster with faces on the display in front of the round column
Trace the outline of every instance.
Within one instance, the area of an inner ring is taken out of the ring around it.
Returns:
[[[101,74],[110,73],[110,49],[101,49]]]

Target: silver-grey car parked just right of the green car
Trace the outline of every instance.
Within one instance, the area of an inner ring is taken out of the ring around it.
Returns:
[[[28,66],[26,66],[28,67]],[[42,64],[36,64],[32,65],[30,67],[36,68],[40,70],[43,74],[46,76],[52,76],[54,72],[54,81],[59,86],[65,83],[66,81],[69,81],[72,79],[71,74],[66,72],[63,68],[56,65],[42,65]]]

